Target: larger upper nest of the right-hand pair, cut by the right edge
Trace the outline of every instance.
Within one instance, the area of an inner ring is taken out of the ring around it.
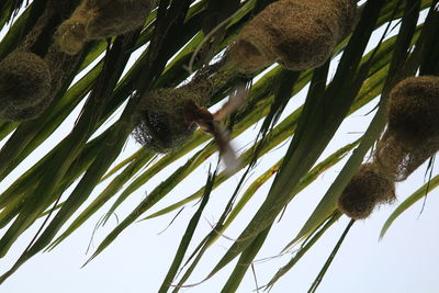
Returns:
[[[439,77],[410,77],[391,92],[389,125],[375,161],[395,181],[405,180],[439,149]]]

